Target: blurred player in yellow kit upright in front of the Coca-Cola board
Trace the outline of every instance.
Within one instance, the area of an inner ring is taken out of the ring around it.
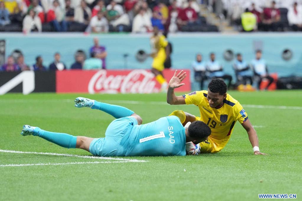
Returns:
[[[155,75],[155,79],[161,84],[162,90],[166,91],[168,88],[168,83],[163,77],[162,71],[165,68],[165,47],[168,45],[168,41],[166,40],[165,36],[159,32],[157,27],[153,27],[153,35],[150,38],[150,44],[152,49],[150,56],[153,57],[151,71]]]

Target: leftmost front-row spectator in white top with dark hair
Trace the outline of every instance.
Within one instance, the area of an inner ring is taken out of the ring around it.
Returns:
[[[42,23],[40,17],[38,17],[34,11],[31,9],[29,14],[26,15],[23,19],[23,32],[28,33],[34,30],[38,30],[38,32],[42,31]]]

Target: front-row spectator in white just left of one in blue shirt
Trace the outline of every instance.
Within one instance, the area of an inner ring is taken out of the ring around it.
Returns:
[[[134,17],[132,24],[132,33],[146,33],[151,31],[152,23],[145,9],[140,8],[140,12]]]

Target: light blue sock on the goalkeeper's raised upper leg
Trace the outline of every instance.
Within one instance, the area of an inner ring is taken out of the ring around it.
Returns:
[[[119,106],[119,105],[110,105],[103,102],[95,101],[95,103],[91,107],[92,109],[98,109],[101,111],[104,111],[108,113],[109,115],[114,116],[114,118],[122,118],[122,117],[128,117],[134,114],[133,111],[131,111],[128,108]]]

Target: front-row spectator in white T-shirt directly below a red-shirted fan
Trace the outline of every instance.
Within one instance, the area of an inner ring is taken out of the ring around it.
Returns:
[[[91,18],[89,27],[86,32],[93,33],[107,33],[109,30],[108,20],[104,17],[102,11],[98,11],[98,14]]]

